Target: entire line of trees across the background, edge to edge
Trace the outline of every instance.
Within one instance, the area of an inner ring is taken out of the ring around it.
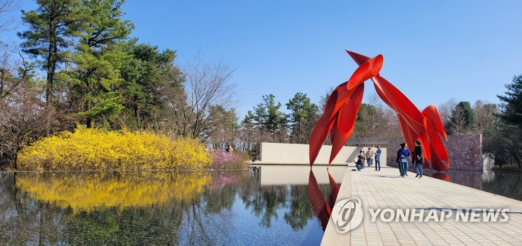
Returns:
[[[0,40],[0,167],[16,163],[22,147],[77,125],[158,131],[256,156],[260,142],[308,143],[334,89],[317,103],[302,92],[284,105],[264,95],[242,117],[235,110],[234,67],[208,61],[201,52],[179,62],[176,51],[131,38],[136,27],[124,18],[124,1],[36,2],[37,9],[21,12],[21,27],[13,27],[13,18],[0,18],[0,32],[16,28],[22,40]],[[0,5],[5,16],[19,11],[21,2]],[[521,80],[506,85],[500,105],[455,99],[439,105],[448,134],[483,134],[484,152],[496,163],[520,165]],[[395,112],[371,95],[352,137],[401,136]]]

